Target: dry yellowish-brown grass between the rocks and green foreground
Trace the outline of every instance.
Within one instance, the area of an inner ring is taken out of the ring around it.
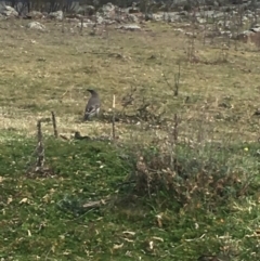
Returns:
[[[101,93],[105,112],[112,108],[115,94],[119,112],[121,99],[131,87],[136,87],[129,113],[134,113],[145,97],[153,103],[150,109],[165,112],[165,118],[180,115],[180,128],[194,136],[199,128],[207,128],[207,139],[227,133],[247,141],[259,136],[258,118],[251,117],[259,106],[260,91],[259,54],[253,45],[239,43],[235,51],[231,42],[222,51],[225,40],[204,45],[198,31],[197,63],[188,63],[188,38],[174,30],[181,25],[146,23],[141,31],[109,26],[108,31],[100,28],[91,36],[90,29],[81,35],[74,24],[65,23],[63,34],[62,25],[54,22],[42,22],[48,28],[46,32],[22,27],[27,23],[1,22],[0,129],[32,134],[36,118],[50,117],[54,110],[60,132],[110,134],[107,122],[80,122],[89,95],[87,88],[93,87]],[[184,29],[191,31],[188,27]],[[223,56],[227,61],[221,61]],[[173,86],[179,62],[180,90],[174,97],[162,74]],[[51,129],[51,123],[46,127],[47,131]],[[117,131],[121,138],[131,139],[127,125],[118,123]],[[147,136],[147,129],[143,132],[138,126],[134,131],[140,140]],[[165,136],[167,132],[157,133]]]

